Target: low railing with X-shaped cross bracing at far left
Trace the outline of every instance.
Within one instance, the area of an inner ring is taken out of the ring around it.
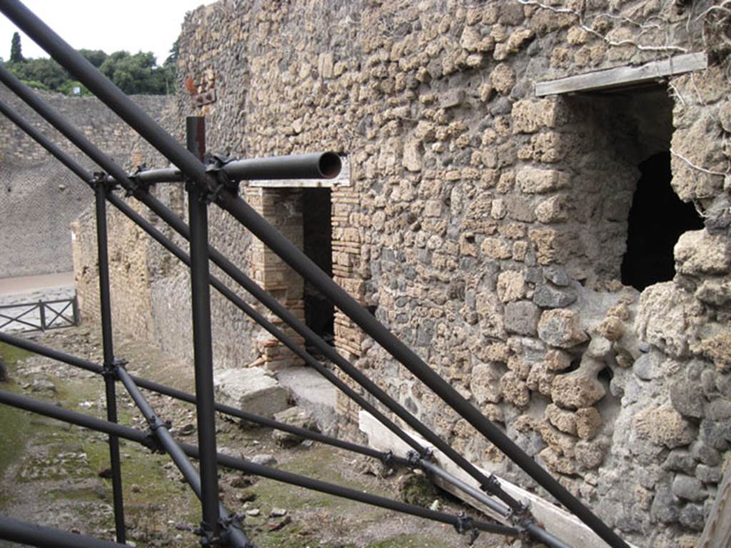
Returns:
[[[76,296],[0,305],[0,331],[47,331],[78,324]]]

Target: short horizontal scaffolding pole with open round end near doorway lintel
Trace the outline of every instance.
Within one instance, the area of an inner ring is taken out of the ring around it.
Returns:
[[[208,164],[209,172],[221,172],[231,183],[238,183],[240,180],[332,179],[340,174],[341,168],[340,156],[334,152],[232,160],[220,166]],[[186,179],[183,172],[175,169],[175,167],[141,170],[130,173],[127,178],[145,185],[182,183]],[[107,176],[105,181],[107,183],[122,183],[121,180],[111,176]]]

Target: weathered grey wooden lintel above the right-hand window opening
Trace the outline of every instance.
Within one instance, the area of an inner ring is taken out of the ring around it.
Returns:
[[[613,88],[631,88],[647,85],[665,77],[708,67],[705,52],[685,53],[639,66],[618,66],[616,69],[587,72],[558,80],[536,83],[536,96],[570,94],[577,91],[599,91]]]

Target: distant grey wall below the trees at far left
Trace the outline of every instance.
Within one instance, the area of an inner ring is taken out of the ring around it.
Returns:
[[[40,96],[102,151],[121,162],[130,160],[134,132],[98,99],[50,92]],[[98,170],[12,92],[3,88],[0,99],[87,170]],[[156,118],[171,104],[164,96],[137,96],[135,100]],[[4,117],[0,142],[0,278],[71,270],[69,225],[94,202],[93,195],[76,175]]]

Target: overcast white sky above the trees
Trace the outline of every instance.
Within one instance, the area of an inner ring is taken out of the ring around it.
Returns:
[[[23,0],[23,4],[76,49],[151,51],[157,64],[162,64],[180,34],[186,12],[213,1]],[[16,31],[18,28],[0,14],[0,57],[6,60]],[[22,32],[20,43],[24,57],[48,57]]]

